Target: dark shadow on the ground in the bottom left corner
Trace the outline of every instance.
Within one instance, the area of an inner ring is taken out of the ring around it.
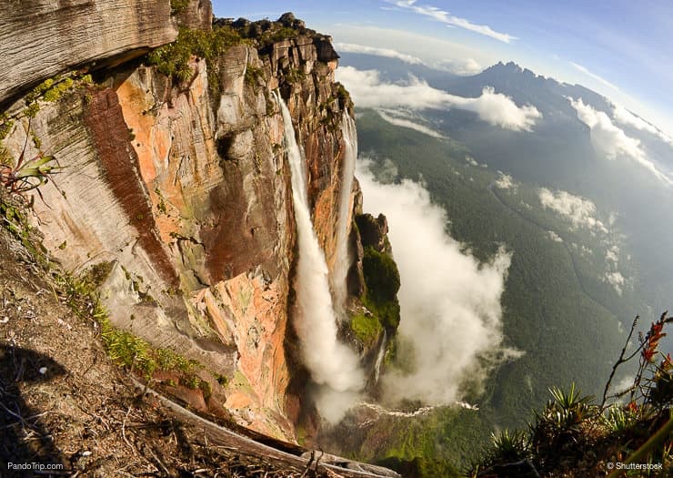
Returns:
[[[43,373],[41,373],[41,371]],[[42,418],[22,394],[25,387],[65,375],[65,368],[46,355],[0,344],[0,476],[30,476],[30,471],[13,471],[7,463],[64,463]],[[43,471],[42,475],[49,473]],[[65,471],[54,475],[69,474]]]

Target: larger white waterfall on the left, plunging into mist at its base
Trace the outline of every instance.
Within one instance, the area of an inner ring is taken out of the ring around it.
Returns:
[[[276,99],[283,116],[296,219],[298,258],[294,325],[306,367],[313,381],[320,386],[316,396],[318,410],[327,420],[336,422],[362,390],[364,375],[357,355],[336,337],[336,316],[325,255],[320,249],[308,208],[304,155],[296,144],[290,112],[277,92]]]

